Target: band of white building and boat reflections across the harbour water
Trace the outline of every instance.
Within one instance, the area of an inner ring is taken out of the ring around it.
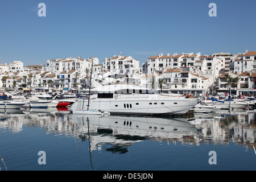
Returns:
[[[220,110],[183,117],[128,117],[71,114],[62,109],[0,110],[0,131],[19,133],[23,126],[42,127],[47,134],[88,140],[90,150],[124,154],[134,143],[152,140],[181,145],[255,146],[255,110]]]

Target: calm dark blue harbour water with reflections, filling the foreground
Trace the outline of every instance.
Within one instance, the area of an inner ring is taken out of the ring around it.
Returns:
[[[8,171],[256,169],[255,110],[166,118],[0,112],[0,156]],[[46,152],[45,165],[39,151]],[[209,164],[210,151],[216,164]]]

